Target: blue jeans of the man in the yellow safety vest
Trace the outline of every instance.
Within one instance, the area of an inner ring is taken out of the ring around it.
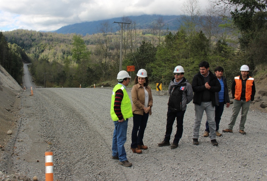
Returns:
[[[123,122],[113,121],[115,125],[112,139],[112,156],[119,157],[120,162],[127,160],[124,144],[126,142],[128,119]]]

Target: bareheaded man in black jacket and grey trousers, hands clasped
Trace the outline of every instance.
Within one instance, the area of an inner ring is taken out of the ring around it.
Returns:
[[[218,146],[216,141],[215,125],[215,92],[221,90],[218,78],[209,71],[209,63],[202,61],[198,65],[199,72],[193,77],[192,88],[194,91],[193,103],[195,104],[195,120],[193,126],[193,144],[198,143],[199,129],[204,110],[210,130],[210,140],[213,146]]]

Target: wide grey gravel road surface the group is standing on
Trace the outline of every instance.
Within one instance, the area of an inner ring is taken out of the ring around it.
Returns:
[[[130,89],[127,90],[131,96]],[[21,120],[13,141],[10,170],[45,180],[44,153],[54,156],[54,180],[266,180],[266,113],[249,110],[247,135],[222,133],[219,146],[202,137],[192,144],[194,105],[187,106],[184,132],[177,149],[158,147],[165,135],[168,96],[153,92],[152,115],[148,119],[144,143],[148,150],[130,150],[132,118],[125,144],[132,167],[110,159],[113,121],[110,118],[111,88],[40,88],[21,96]],[[232,106],[225,108],[220,132],[227,128]],[[176,124],[174,124],[176,131]],[[171,141],[173,140],[173,134]]]

